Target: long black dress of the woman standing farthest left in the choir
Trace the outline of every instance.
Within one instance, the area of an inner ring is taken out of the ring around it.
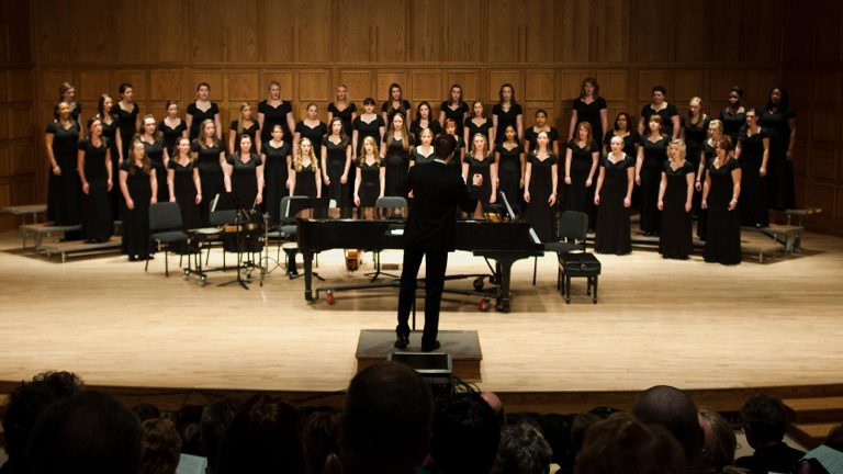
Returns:
[[[53,134],[53,157],[61,169],[61,176],[49,170],[47,184],[47,221],[57,225],[76,225],[81,219],[82,182],[77,171],[76,151],[79,125],[74,122],[65,129],[57,122],[47,124],[46,133]]]

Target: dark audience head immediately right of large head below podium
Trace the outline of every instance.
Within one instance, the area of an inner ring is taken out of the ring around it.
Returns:
[[[488,473],[499,443],[501,422],[480,394],[457,394],[437,405],[430,456],[441,473]]]

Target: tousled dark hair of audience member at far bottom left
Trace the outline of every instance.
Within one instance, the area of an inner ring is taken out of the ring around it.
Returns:
[[[82,390],[82,381],[72,372],[43,372],[21,382],[9,394],[3,416],[3,437],[10,466],[27,472],[26,444],[37,416],[52,404],[70,398]]]

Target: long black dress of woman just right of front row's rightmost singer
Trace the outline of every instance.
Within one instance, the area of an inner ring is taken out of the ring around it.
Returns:
[[[739,138],[741,143],[741,225],[766,227],[769,225],[767,211],[767,177],[761,176],[764,162],[764,138],[767,131],[763,127],[756,134],[744,129]]]

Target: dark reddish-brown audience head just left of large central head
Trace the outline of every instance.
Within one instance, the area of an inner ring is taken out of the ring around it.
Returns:
[[[218,473],[304,474],[306,461],[299,411],[266,394],[254,395],[237,411],[223,438]]]

